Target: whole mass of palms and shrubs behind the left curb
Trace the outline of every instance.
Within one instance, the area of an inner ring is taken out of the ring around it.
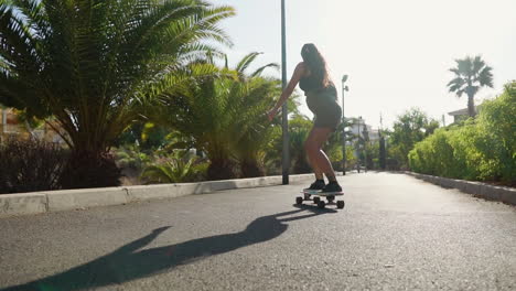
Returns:
[[[234,14],[203,0],[0,2],[0,104],[63,141],[2,142],[0,193],[279,173],[280,120],[265,116],[278,65],[228,65],[219,23]],[[307,172],[311,120],[288,106],[291,170]]]

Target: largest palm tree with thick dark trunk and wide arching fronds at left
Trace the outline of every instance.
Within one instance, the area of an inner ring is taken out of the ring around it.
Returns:
[[[64,187],[116,185],[115,139],[163,88],[209,73],[184,65],[230,44],[217,24],[234,13],[204,0],[1,1],[0,103],[55,118],[73,151]]]

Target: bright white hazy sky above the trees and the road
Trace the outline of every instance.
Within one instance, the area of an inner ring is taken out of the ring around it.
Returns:
[[[237,9],[237,15],[223,24],[235,43],[228,50],[230,61],[264,52],[257,64],[281,63],[280,0],[212,2]],[[495,97],[506,82],[516,79],[515,0],[286,2],[289,77],[301,61],[301,46],[315,43],[338,88],[342,76],[350,75],[345,115],[362,116],[374,128],[380,112],[384,126],[391,126],[410,107],[439,120],[465,108],[466,99],[445,87],[455,58],[480,54],[493,67],[495,88],[482,89],[477,103]],[[304,99],[302,104],[302,111],[311,116]],[[452,121],[445,118],[447,123]]]

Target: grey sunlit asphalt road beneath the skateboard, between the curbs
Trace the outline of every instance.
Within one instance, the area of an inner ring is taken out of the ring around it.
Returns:
[[[515,290],[516,208],[404,174],[0,219],[0,290]]]

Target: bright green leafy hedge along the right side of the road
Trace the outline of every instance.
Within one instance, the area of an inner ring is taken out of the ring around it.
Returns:
[[[476,120],[437,130],[409,153],[412,171],[516,185],[516,83],[482,104]]]

